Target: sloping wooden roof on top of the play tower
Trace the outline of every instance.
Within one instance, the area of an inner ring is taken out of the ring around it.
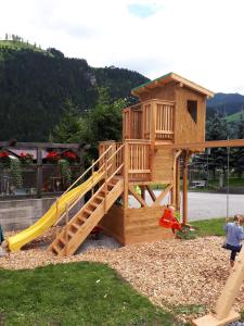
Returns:
[[[158,77],[154,80],[151,80],[151,82],[147,82],[143,85],[140,85],[140,86],[133,88],[131,92],[132,92],[133,96],[140,96],[142,92],[149,91],[149,90],[151,90],[153,88],[156,88],[156,87],[164,86],[164,85],[166,85],[170,82],[177,82],[181,86],[185,86],[188,88],[191,88],[191,89],[193,89],[193,90],[195,90],[195,91],[197,91],[202,95],[205,95],[207,97],[210,97],[210,98],[214,97],[214,95],[215,95],[213,91],[210,91],[210,90],[208,90],[208,89],[206,89],[206,88],[204,88],[204,87],[202,87],[202,86],[200,86],[200,85],[197,85],[197,84],[195,84],[191,80],[188,80],[184,77],[181,77],[181,76],[179,76],[175,73],[168,73],[168,74],[166,74],[164,76],[160,76],[160,77]]]

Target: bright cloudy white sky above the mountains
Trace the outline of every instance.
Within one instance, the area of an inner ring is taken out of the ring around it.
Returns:
[[[5,33],[154,79],[244,95],[243,0],[0,0]]]

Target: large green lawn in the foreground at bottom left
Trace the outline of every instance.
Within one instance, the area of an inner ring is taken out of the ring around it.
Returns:
[[[0,325],[182,325],[106,265],[0,269]]]

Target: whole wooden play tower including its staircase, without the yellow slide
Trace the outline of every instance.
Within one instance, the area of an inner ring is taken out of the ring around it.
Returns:
[[[158,221],[166,203],[180,209],[181,158],[182,223],[187,223],[187,163],[190,153],[201,149],[165,147],[205,140],[206,99],[214,93],[174,73],[134,88],[132,93],[140,102],[123,112],[123,141],[100,143],[100,156],[85,174],[97,171],[102,177],[93,185],[91,199],[51,244],[57,255],[74,254],[98,224],[123,246],[175,237],[170,228],[159,227]],[[152,190],[155,184],[163,187],[158,197]],[[130,208],[131,197],[140,208]],[[66,215],[72,208],[67,206]]]

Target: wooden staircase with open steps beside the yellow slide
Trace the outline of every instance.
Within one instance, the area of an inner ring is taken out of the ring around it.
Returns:
[[[74,254],[123,191],[123,179],[104,181],[50,244],[50,250],[59,256]]]

